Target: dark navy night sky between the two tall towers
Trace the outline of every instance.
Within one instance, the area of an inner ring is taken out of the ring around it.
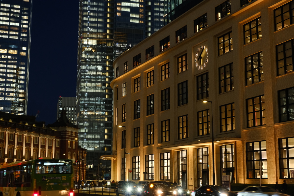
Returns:
[[[76,97],[78,0],[33,0],[27,115],[56,121],[59,96]]]

